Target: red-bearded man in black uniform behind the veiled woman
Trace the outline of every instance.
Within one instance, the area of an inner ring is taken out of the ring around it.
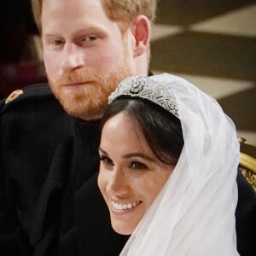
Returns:
[[[148,74],[155,5],[154,0],[32,1],[49,87],[58,101],[47,86],[36,85],[1,103],[1,253],[121,251],[127,237],[111,230],[96,187],[99,122],[119,81]],[[238,206],[239,216],[252,212],[250,192],[247,208]],[[246,252],[247,245],[241,249]]]

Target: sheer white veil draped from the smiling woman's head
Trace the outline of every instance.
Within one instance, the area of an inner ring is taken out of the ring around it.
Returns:
[[[211,96],[171,74],[150,77],[177,101],[184,147],[121,256],[230,256],[236,251],[236,127]]]

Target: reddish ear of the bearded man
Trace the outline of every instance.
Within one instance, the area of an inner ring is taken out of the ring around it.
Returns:
[[[133,20],[132,33],[135,38],[133,53],[137,57],[148,49],[151,36],[150,21],[145,15],[137,15]]]

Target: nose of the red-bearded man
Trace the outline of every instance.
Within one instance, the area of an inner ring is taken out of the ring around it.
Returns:
[[[83,49],[77,44],[65,44],[62,54],[61,69],[64,72],[83,67],[85,64]]]

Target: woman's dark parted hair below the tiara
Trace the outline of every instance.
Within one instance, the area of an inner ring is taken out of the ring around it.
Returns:
[[[184,144],[180,120],[154,102],[139,97],[119,96],[104,113],[102,128],[108,119],[123,111],[143,132],[156,157],[166,164],[176,165]]]

